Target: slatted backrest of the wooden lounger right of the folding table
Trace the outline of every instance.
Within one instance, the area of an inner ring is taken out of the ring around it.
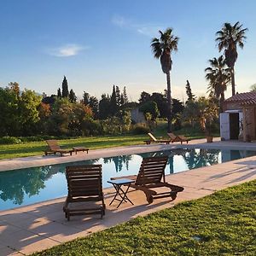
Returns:
[[[168,158],[151,157],[144,158],[140,171],[137,175],[136,184],[146,185],[151,183],[160,183],[162,178],[165,181],[165,169]]]

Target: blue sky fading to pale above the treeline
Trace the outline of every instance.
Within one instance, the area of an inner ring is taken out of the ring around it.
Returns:
[[[245,92],[256,83],[255,9],[254,0],[0,0],[0,86],[18,82],[50,96],[65,75],[79,97],[86,91],[100,99],[114,84],[137,101],[143,90],[166,89],[150,43],[172,27],[179,38],[172,96],[186,100],[187,79],[195,96],[205,96],[204,70],[221,55],[215,33],[240,21],[248,31],[238,49],[236,91]]]

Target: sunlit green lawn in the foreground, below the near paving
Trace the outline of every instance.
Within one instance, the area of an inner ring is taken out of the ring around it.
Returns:
[[[243,183],[33,255],[254,256],[255,187]]]

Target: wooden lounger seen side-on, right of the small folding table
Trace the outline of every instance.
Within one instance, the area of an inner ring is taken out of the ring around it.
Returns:
[[[143,158],[140,170],[137,176],[126,176],[134,179],[135,183],[131,183],[131,188],[142,190],[148,204],[154,199],[171,197],[172,201],[176,199],[177,192],[183,191],[183,187],[166,183],[165,169],[167,164],[167,156]],[[125,177],[112,177],[111,179],[119,179]],[[168,191],[157,193],[154,189],[166,187]]]

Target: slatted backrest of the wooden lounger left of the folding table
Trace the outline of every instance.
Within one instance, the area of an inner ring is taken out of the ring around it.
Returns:
[[[102,196],[102,165],[67,166],[68,197]]]

